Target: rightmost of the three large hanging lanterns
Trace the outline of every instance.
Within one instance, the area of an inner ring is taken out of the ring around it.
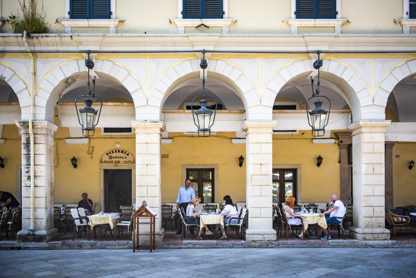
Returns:
[[[310,97],[308,99],[308,101],[306,102],[306,114],[307,114],[307,118],[308,118],[308,124],[310,125],[310,127],[312,127],[312,136],[315,137],[319,137],[319,136],[324,136],[325,134],[325,127],[328,124],[328,120],[329,120],[329,111],[331,110],[331,101],[329,100],[329,98],[324,97],[324,96],[319,96],[319,68],[322,67],[322,60],[319,59],[319,55],[321,54],[321,52],[318,50],[317,52],[318,54],[318,60],[316,60],[313,63],[313,67],[314,69],[318,70],[318,89],[314,92],[313,91],[313,79],[311,77],[311,83],[312,83],[312,97]],[[314,102],[315,104],[315,109],[313,109],[311,112],[308,111],[308,103],[310,101],[310,99],[314,98],[314,97],[324,97],[326,99],[328,99],[329,102],[329,109],[328,111],[324,110],[321,108],[322,106],[322,101],[320,101],[319,99]],[[314,135],[315,132],[315,135]]]

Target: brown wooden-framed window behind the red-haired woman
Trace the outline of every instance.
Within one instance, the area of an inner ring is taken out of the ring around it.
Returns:
[[[272,203],[284,203],[287,196],[296,196],[296,169],[273,169]]]

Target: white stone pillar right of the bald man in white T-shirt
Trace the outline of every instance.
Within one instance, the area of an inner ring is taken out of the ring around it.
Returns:
[[[384,133],[390,121],[359,121],[352,131],[353,217],[349,236],[389,240],[384,228]]]

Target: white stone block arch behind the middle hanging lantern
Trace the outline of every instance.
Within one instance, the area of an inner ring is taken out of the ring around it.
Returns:
[[[253,107],[260,105],[260,99],[255,93],[253,82],[248,79],[242,70],[224,62],[223,60],[208,60],[207,76],[223,81],[232,87],[243,101],[247,119]],[[160,77],[151,92],[147,112],[154,117],[152,120],[162,119],[163,103],[168,95],[182,82],[199,77],[199,60],[186,60],[179,65],[172,66]],[[271,117],[271,115],[270,115]]]

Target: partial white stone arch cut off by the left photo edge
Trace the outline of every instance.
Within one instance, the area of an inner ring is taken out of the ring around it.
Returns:
[[[30,118],[30,85],[23,77],[18,75],[17,70],[7,63],[0,61],[0,78],[12,87],[13,92],[19,99],[22,121],[27,121]]]

